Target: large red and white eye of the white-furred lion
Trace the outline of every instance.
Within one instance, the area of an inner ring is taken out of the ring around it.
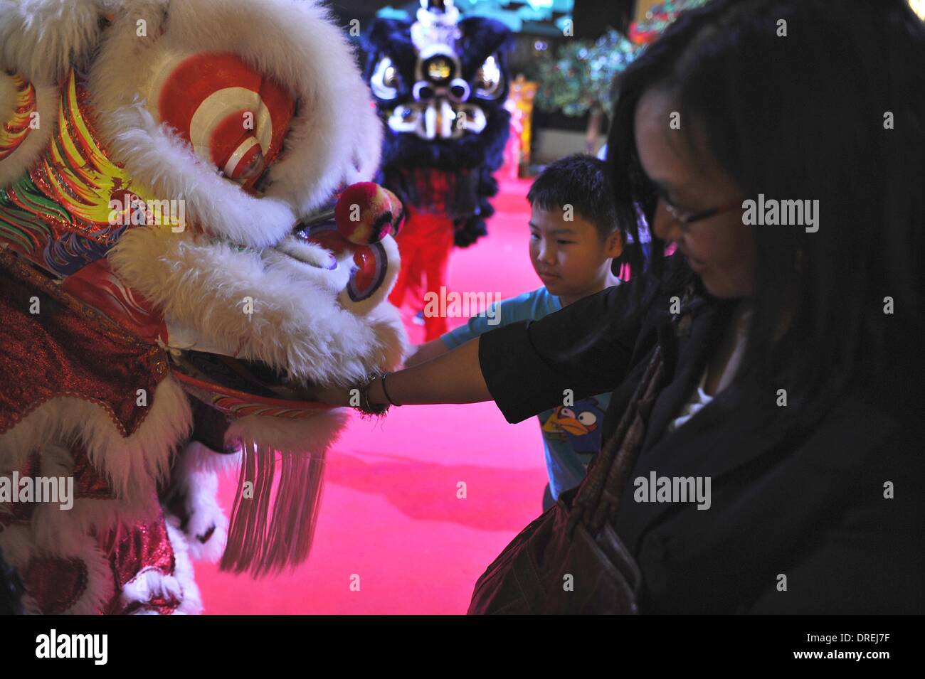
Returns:
[[[149,107],[201,158],[252,188],[282,149],[295,101],[238,55],[172,55],[156,70]]]

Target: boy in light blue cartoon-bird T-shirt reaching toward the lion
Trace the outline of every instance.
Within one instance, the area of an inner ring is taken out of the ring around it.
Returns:
[[[613,260],[623,250],[606,164],[575,154],[549,164],[527,193],[530,261],[543,286],[505,299],[470,321],[419,346],[405,365],[436,358],[500,325],[539,320],[574,301],[619,285]],[[546,448],[549,486],[544,509],[585,477],[600,447],[600,426],[611,394],[598,394],[538,415]]]

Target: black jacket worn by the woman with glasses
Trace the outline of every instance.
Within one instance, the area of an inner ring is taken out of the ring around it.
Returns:
[[[642,612],[925,612],[922,418],[904,421],[856,389],[800,430],[781,425],[776,389],[737,380],[669,433],[730,313],[701,297],[690,336],[672,342],[674,295],[662,286],[642,301],[619,285],[479,340],[509,422],[561,405],[565,390],[575,401],[612,391],[602,441],[662,342],[670,382],[631,483],[651,471],[709,477],[711,504],[637,503],[635,487],[623,492],[615,528],[643,573]]]

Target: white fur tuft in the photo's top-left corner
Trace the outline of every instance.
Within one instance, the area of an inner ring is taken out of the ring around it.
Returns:
[[[98,0],[0,0],[0,70],[55,85],[99,42]]]

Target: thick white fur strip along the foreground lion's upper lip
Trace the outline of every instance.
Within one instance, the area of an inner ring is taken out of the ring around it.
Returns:
[[[401,322],[388,318],[388,302],[356,316],[313,284],[313,276],[329,272],[290,258],[275,266],[255,252],[149,227],[122,236],[109,259],[119,278],[167,315],[209,335],[226,353],[240,345],[241,358],[262,360],[292,379],[356,382],[401,353]],[[245,297],[253,298],[250,316],[243,313]]]

